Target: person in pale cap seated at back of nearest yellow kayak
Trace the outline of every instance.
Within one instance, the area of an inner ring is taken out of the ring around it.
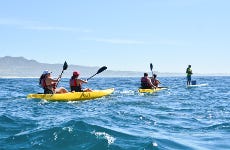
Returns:
[[[67,93],[68,90],[63,87],[56,88],[56,83],[60,78],[52,79],[51,73],[52,72],[45,70],[40,77],[39,84],[44,89],[44,94]]]

